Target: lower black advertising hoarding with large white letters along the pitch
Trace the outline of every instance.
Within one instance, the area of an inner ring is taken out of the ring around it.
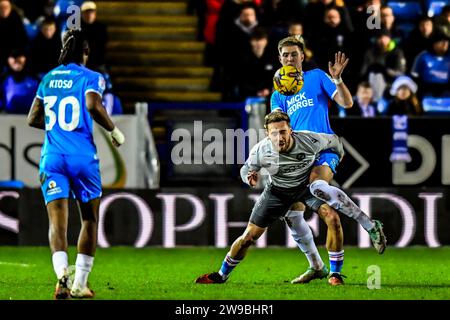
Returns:
[[[347,192],[363,210],[384,223],[390,246],[450,245],[448,189],[353,188]],[[258,195],[246,188],[105,190],[98,244],[228,247],[244,230]],[[48,245],[47,213],[40,190],[0,190],[0,196],[1,244]],[[80,227],[74,203],[70,212],[68,236],[74,245]],[[355,221],[340,216],[345,245],[370,247],[367,233]],[[325,224],[310,212],[306,218],[316,243],[324,245]],[[257,246],[268,245],[295,247],[283,222],[277,221],[258,240]]]

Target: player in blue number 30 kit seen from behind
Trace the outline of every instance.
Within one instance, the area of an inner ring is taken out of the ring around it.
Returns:
[[[119,147],[125,137],[102,105],[105,80],[85,67],[89,46],[80,30],[63,38],[59,66],[42,79],[28,124],[45,130],[39,178],[49,217],[49,242],[57,276],[55,299],[92,298],[87,279],[94,263],[102,185],[93,139],[95,120]],[[67,225],[69,197],[77,200],[81,230],[75,276],[69,283]]]

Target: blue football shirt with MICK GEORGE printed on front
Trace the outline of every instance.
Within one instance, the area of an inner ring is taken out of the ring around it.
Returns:
[[[303,73],[303,88],[292,96],[274,91],[270,99],[271,111],[279,109],[291,119],[294,131],[333,134],[328,117],[328,102],[337,93],[336,85],[320,69]]]

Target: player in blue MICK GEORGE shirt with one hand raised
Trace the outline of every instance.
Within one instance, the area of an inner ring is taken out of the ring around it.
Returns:
[[[298,93],[291,96],[282,95],[274,91],[271,96],[271,111],[280,110],[286,112],[291,119],[294,131],[334,134],[328,117],[329,100],[334,100],[344,108],[351,108],[353,105],[352,95],[341,78],[349,59],[345,57],[344,53],[336,53],[334,64],[331,62],[328,64],[330,77],[320,69],[302,71],[302,62],[305,56],[304,42],[301,37],[290,36],[280,40],[278,52],[279,60],[283,66],[294,66],[303,73],[304,85]],[[344,261],[342,228],[335,227],[336,224],[340,226],[340,219],[335,210],[344,213],[361,224],[368,231],[378,253],[383,253],[386,248],[386,237],[383,233],[381,222],[370,219],[341,189],[329,185],[334,173],[336,173],[338,164],[339,158],[335,153],[327,150],[322,151],[312,169],[309,185],[309,189],[315,197],[326,202],[334,209],[329,208],[329,210],[324,212],[318,212],[328,226],[329,283],[332,285],[343,283],[340,271]],[[303,238],[307,239],[306,241],[308,242],[314,242],[312,234],[309,234],[311,233],[309,228],[301,227],[301,225],[306,224],[303,218],[304,210],[304,204],[296,203],[290,208],[285,218],[291,229],[292,236],[300,249],[299,239]],[[308,234],[299,235],[299,230],[303,230],[303,233],[304,230],[309,231]],[[312,244],[309,246],[311,247]],[[304,274],[294,279],[293,283],[307,283],[313,279],[323,277],[326,268],[320,268],[317,265],[314,267],[309,257],[308,260],[310,260],[310,268]]]

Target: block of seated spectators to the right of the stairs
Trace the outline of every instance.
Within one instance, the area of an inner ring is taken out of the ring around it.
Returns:
[[[205,5],[197,12],[205,16],[206,63],[214,66],[213,86],[225,101],[270,96],[280,66],[277,43],[287,35],[303,37],[305,71],[328,71],[338,51],[350,57],[344,73],[356,92],[350,115],[420,115],[423,101],[450,97],[448,1],[198,2]]]

